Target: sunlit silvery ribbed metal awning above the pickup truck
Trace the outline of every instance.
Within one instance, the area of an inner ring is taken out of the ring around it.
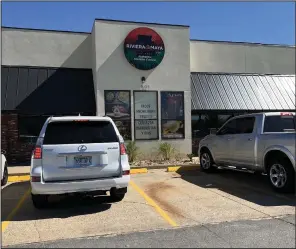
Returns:
[[[295,75],[191,73],[192,110],[295,110]]]

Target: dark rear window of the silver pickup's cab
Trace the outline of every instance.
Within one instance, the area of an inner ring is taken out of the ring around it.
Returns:
[[[295,116],[266,116],[264,132],[286,132],[295,131]]]

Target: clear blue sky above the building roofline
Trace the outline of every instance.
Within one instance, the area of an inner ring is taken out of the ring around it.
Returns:
[[[91,31],[95,18],[185,24],[191,39],[295,45],[293,2],[2,2],[2,25]]]

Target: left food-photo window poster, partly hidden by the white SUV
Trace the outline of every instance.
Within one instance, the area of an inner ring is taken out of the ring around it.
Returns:
[[[125,140],[131,139],[130,91],[106,90],[105,115],[113,119]]]

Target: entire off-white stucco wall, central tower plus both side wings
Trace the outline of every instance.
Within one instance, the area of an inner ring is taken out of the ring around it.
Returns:
[[[165,55],[155,69],[129,64],[123,42],[138,27],[156,31]],[[95,20],[90,33],[2,29],[2,64],[92,69],[97,115],[105,115],[104,91],[129,90],[134,139],[133,91],[158,91],[158,140],[137,141],[148,155],[161,140],[160,91],[184,92],[185,138],[166,140],[181,154],[191,153],[191,72],[295,74],[295,47],[230,42],[190,41],[190,27]]]

